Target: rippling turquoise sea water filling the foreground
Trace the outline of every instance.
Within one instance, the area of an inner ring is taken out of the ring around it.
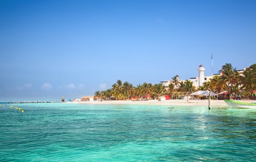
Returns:
[[[251,162],[256,110],[18,104],[0,107],[0,161]]]

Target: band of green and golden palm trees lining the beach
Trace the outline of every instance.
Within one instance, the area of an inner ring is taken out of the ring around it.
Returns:
[[[179,81],[178,77],[175,76],[171,78],[171,84],[167,88],[161,83],[154,85],[143,83],[134,87],[127,81],[123,83],[121,80],[117,80],[111,89],[102,92],[96,91],[94,96],[97,98],[114,97],[118,100],[131,100],[132,96],[142,99],[143,96],[149,94],[150,98],[154,99],[167,94],[172,98],[175,92],[193,93],[197,90],[211,89],[212,92],[227,91],[234,96],[244,95],[247,97],[252,95],[252,90],[256,89],[256,64],[253,64],[241,74],[231,64],[224,64],[219,72],[221,75],[215,75],[198,89],[192,81]]]

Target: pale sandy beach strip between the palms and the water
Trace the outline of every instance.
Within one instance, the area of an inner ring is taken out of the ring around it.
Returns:
[[[241,100],[241,102],[253,103],[254,100]],[[84,101],[84,102],[65,102],[74,104],[141,104],[141,105],[180,105],[180,106],[208,106],[208,100],[147,100],[147,101]],[[211,100],[210,106],[227,107],[224,100]]]

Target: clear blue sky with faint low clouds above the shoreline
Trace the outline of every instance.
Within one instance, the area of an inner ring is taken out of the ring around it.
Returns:
[[[255,0],[0,0],[0,102],[256,63]]]

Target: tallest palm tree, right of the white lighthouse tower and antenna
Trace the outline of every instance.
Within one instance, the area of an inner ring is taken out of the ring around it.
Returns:
[[[228,82],[228,93],[230,93],[230,89],[232,90],[233,84],[237,81],[237,78],[239,78],[239,73],[236,71],[236,68],[232,67],[231,64],[224,64],[221,67],[221,70],[219,70],[221,75],[221,79]],[[230,88],[231,85],[231,88]]]

